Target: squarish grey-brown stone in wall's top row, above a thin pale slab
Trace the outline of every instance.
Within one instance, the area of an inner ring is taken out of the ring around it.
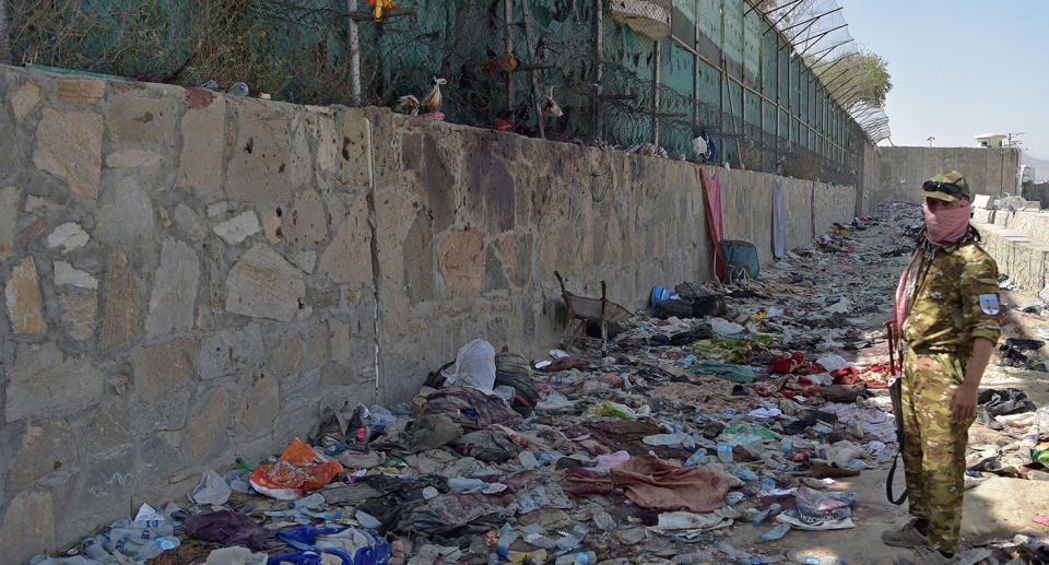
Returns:
[[[106,117],[109,137],[116,143],[175,146],[175,105],[152,90],[135,90],[114,96]]]

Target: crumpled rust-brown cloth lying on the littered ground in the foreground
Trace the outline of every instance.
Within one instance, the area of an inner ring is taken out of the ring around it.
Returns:
[[[651,455],[613,467],[612,482],[641,508],[708,513],[721,506],[729,485],[699,467],[676,467]]]

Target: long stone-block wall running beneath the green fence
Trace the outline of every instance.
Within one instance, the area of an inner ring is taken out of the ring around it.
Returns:
[[[698,172],[0,67],[0,554],[182,499],[327,404],[405,400],[471,339],[554,343],[554,270],[632,308],[708,278]],[[774,177],[717,173],[768,266]],[[790,247],[852,215],[852,189],[786,190]]]

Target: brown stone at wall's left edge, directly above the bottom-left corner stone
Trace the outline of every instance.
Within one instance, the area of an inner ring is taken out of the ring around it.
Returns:
[[[74,463],[76,443],[64,420],[30,422],[14,454],[5,489],[21,491],[37,479]]]

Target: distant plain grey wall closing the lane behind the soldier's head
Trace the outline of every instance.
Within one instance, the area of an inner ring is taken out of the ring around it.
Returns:
[[[873,153],[871,202],[920,203],[918,191],[930,177],[958,169],[977,195],[1019,193],[1019,150],[985,148],[877,148]]]

